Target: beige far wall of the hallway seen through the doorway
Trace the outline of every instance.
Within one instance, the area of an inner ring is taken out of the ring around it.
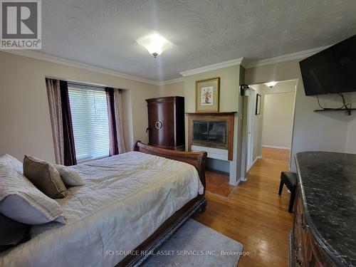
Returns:
[[[262,146],[292,145],[294,92],[271,93],[264,97]]]

